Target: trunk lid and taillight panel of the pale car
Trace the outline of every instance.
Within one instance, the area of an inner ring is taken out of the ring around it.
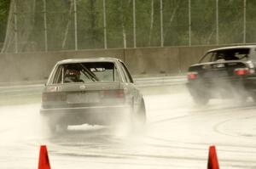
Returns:
[[[46,87],[43,104],[110,104],[123,103],[125,90],[120,82],[66,83]]]

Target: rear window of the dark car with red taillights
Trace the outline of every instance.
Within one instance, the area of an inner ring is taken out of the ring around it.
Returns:
[[[200,63],[224,61],[224,60],[242,60],[247,61],[249,54],[249,48],[235,48],[212,51],[207,53]]]

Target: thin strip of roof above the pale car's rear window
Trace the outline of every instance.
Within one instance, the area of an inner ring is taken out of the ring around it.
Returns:
[[[73,63],[82,63],[82,62],[116,62],[120,59],[117,58],[86,58],[86,59],[63,59],[61,61],[58,61],[57,64],[73,64]]]

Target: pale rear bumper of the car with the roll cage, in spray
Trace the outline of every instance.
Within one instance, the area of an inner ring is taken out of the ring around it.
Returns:
[[[75,108],[42,108],[40,113],[54,123],[61,121],[61,123],[64,122],[67,125],[83,123],[109,125],[130,118],[131,106],[127,104]]]

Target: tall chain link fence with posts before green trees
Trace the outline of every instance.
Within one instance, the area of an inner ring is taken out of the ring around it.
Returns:
[[[3,53],[256,42],[255,0],[12,0]]]

